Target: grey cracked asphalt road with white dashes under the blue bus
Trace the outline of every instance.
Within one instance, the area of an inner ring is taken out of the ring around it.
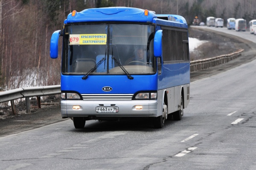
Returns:
[[[76,130],[68,119],[21,130],[0,137],[0,169],[255,170],[256,53],[249,46],[230,65],[194,75],[181,121],[163,129],[147,120],[86,121]]]

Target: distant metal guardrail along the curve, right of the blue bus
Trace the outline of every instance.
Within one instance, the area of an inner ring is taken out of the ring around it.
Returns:
[[[198,71],[198,70],[202,70],[202,69],[207,69],[209,67],[217,66],[217,65],[220,65],[223,63],[227,63],[227,62],[241,56],[243,51],[244,51],[244,49],[239,49],[238,51],[232,52],[227,55],[220,55],[220,56],[213,57],[213,58],[190,61],[190,71],[194,72],[194,71]]]

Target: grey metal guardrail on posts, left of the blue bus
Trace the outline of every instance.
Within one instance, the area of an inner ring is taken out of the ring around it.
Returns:
[[[60,94],[60,85],[39,86],[39,87],[22,87],[18,89],[0,92],[0,103],[11,101],[12,112],[16,114],[14,100],[19,98],[26,99],[26,112],[30,113],[29,97],[37,97],[38,108],[41,108],[40,97],[45,95]]]

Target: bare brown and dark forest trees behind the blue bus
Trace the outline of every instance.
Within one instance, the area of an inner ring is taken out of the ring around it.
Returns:
[[[0,0],[0,91],[60,84],[61,52],[50,58],[52,33],[73,10],[109,6],[179,14],[188,24],[195,16],[256,19],[256,0]]]

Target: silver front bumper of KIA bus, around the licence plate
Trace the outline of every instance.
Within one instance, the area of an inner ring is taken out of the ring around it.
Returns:
[[[136,106],[138,106],[139,109],[136,109]],[[97,112],[96,107],[118,107],[118,112]],[[62,118],[91,117],[98,119],[100,117],[157,117],[157,100],[62,100],[61,114]]]

